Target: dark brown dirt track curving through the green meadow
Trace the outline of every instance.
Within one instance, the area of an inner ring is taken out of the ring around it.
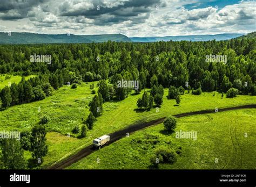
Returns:
[[[242,106],[235,106],[235,107],[228,107],[228,108],[224,108],[224,109],[218,109],[218,112],[223,112],[223,111],[228,111],[228,110],[237,110],[237,109],[251,109],[251,108],[256,108],[256,104],[242,105]],[[192,115],[205,114],[205,113],[214,113],[214,112],[215,112],[215,110],[202,110],[202,111],[196,111],[196,112],[187,112],[187,113],[176,114],[176,115],[173,115],[173,116],[176,117],[176,118],[181,118],[181,117],[185,117],[185,116],[192,116]],[[145,127],[149,127],[149,126],[152,126],[152,125],[157,125],[157,124],[163,123],[165,118],[166,117],[159,118],[157,120],[153,120],[153,121],[150,121],[150,122],[138,123],[138,124],[135,124],[135,125],[128,126],[124,130],[120,130],[120,131],[111,133],[111,134],[109,134],[110,135],[109,144],[123,138],[124,136],[126,136],[126,133],[131,134],[135,131],[142,130]],[[95,152],[95,151],[96,150],[93,149],[92,145],[87,146],[87,147],[83,148],[82,150],[80,150],[75,155],[71,155],[70,157],[68,157],[68,159],[63,160],[63,161],[49,167],[48,169],[64,169],[64,168],[70,166],[72,163],[77,162],[78,160],[82,159],[83,157],[86,157],[87,155],[90,155],[92,152]]]

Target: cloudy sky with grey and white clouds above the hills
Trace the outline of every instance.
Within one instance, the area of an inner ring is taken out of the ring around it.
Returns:
[[[249,33],[256,1],[1,0],[0,31],[128,37]]]

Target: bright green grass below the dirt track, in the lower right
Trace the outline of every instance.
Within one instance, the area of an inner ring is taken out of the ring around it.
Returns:
[[[159,169],[255,169],[255,114],[256,109],[244,109],[179,118],[175,131],[197,132],[196,140],[177,139],[175,132],[163,131],[163,124],[148,127],[92,153],[68,169],[148,169],[156,150],[175,152],[179,147],[177,162],[160,163]]]

